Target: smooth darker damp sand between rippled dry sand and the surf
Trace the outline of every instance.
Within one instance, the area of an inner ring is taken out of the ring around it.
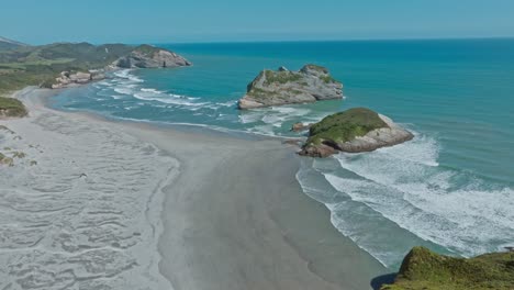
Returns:
[[[302,192],[295,179],[300,157],[290,145],[55,111],[44,101],[52,93],[32,89],[18,96],[29,101],[30,116],[0,123],[22,134],[27,123],[49,122],[51,115],[80,120],[150,144],[158,148],[155,160],[172,164],[152,180],[161,193],[149,197],[148,210],[154,222],[161,221],[154,233],[158,270],[174,289],[370,289],[371,279],[387,274],[337,232],[324,204]],[[35,120],[42,114],[47,121]],[[155,207],[163,211],[153,212]]]

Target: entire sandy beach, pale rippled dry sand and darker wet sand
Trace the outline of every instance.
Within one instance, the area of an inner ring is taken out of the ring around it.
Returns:
[[[371,289],[279,140],[113,122],[15,94],[0,120],[0,289]],[[5,149],[9,148],[9,149]],[[9,155],[9,154],[5,154]],[[11,156],[9,155],[9,156]]]

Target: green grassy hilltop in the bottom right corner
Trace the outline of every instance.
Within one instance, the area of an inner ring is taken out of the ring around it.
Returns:
[[[394,285],[381,290],[512,290],[514,253],[494,253],[470,259],[413,248],[403,260]]]

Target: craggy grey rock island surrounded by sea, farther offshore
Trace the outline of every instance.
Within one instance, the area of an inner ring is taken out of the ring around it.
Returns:
[[[238,108],[254,109],[342,98],[343,85],[326,68],[306,65],[299,71],[291,71],[280,67],[277,71],[261,71],[248,85]]]

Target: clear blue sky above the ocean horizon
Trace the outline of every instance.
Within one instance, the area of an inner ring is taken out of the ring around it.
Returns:
[[[31,44],[514,36],[514,0],[0,2],[0,36]]]

